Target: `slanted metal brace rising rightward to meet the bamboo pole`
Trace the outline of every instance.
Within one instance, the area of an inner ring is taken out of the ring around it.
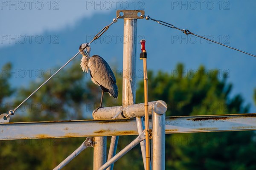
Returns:
[[[113,158],[111,158],[104,165],[102,165],[102,167],[100,167],[99,170],[104,170],[107,167],[111,166],[111,164],[115,163],[119,158],[124,156],[125,153],[127,153],[129,150],[134,148],[137,144],[139,144],[144,139],[145,139],[145,132],[141,133],[136,139],[134,139],[134,141],[132,141],[125,148],[123,148],[119,153],[117,153]]]

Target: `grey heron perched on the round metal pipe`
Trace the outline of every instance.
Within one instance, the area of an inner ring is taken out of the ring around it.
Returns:
[[[86,44],[81,44],[79,51],[81,51],[85,45]],[[116,85],[116,77],[105,59],[98,55],[93,55],[90,57],[90,50],[91,48],[89,46],[80,52],[80,54],[83,56],[80,65],[82,71],[90,73],[92,82],[100,86],[102,89],[102,96],[99,106],[99,108],[102,108],[104,92],[107,92],[110,96],[113,96],[115,99],[117,99],[118,89]],[[98,111],[99,108],[96,108],[96,111]]]

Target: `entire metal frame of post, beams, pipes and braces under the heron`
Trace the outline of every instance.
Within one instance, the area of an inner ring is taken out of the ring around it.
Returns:
[[[122,106],[100,108],[97,112],[93,112],[94,120],[9,123],[10,117],[8,117],[6,121],[0,122],[0,140],[87,137],[78,149],[55,167],[55,170],[64,167],[87,147],[94,147],[93,169],[112,170],[115,161],[140,143],[146,169],[143,120],[145,108],[144,103],[134,104],[137,19],[143,18],[141,15],[144,15],[144,11],[118,10],[116,16],[119,16],[120,12],[123,12],[119,18],[124,19],[124,36],[131,37],[124,43],[123,69],[126,72],[123,73]],[[256,113],[166,117],[167,105],[161,100],[149,102],[148,110],[151,115],[149,128],[152,130],[150,168],[153,170],[165,169],[165,134],[256,130]],[[115,155],[118,136],[123,135],[138,135],[138,137]],[[108,161],[106,161],[106,136],[112,136]]]

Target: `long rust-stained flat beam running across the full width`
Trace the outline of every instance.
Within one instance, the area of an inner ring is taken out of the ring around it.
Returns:
[[[166,134],[236,130],[256,130],[256,113],[166,117]],[[138,135],[136,119],[0,124],[0,140],[123,135]]]

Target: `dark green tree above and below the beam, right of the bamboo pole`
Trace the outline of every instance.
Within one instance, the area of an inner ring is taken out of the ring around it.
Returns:
[[[229,97],[232,85],[228,75],[212,74],[201,66],[195,74],[183,74],[178,64],[172,74],[148,74],[149,100],[162,99],[168,105],[167,116],[246,113],[240,95]],[[143,102],[143,82],[137,91]],[[255,133],[187,133],[166,135],[166,169],[174,170],[249,170],[256,168]],[[246,156],[247,155],[247,156]]]

